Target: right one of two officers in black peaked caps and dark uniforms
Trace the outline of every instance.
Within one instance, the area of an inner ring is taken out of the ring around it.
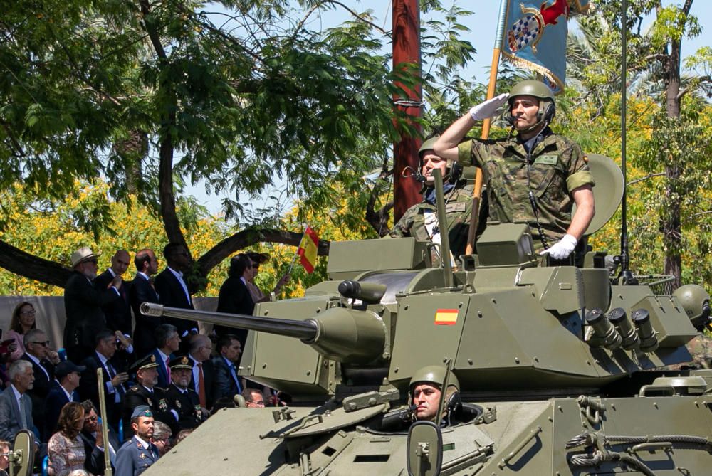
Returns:
[[[187,356],[175,357],[169,362],[171,386],[166,391],[169,407],[178,414],[178,428],[196,428],[208,416],[200,406],[198,394],[189,388],[193,366]]]

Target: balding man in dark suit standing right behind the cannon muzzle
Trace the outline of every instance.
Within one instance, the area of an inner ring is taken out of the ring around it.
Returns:
[[[151,276],[158,273],[158,260],[150,248],[144,248],[136,253],[134,258],[136,276],[129,290],[129,302],[136,321],[134,329],[134,348],[136,356],[141,358],[156,347],[153,332],[156,327],[165,324],[164,317],[145,316],[141,314],[140,306],[143,302],[159,303],[159,297],[151,282]]]

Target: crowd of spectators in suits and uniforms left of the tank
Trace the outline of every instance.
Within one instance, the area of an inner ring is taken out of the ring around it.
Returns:
[[[103,475],[105,452],[114,474],[137,475],[211,412],[235,406],[241,400],[236,396],[253,408],[265,406],[271,396],[270,389],[238,374],[246,333],[219,328],[205,334],[194,321],[137,313],[142,302],[194,308],[183,275],[190,263],[183,245],[166,245],[161,273],[154,251],[139,250],[129,281],[123,275],[130,256],[117,250],[111,266],[98,275],[98,254],[90,248],[71,255],[64,351],[56,351],[36,327],[31,303],[15,307],[5,334],[9,340],[0,351],[0,476],[21,430],[33,435],[38,460],[48,456],[49,475]],[[253,312],[253,277],[261,256],[232,258],[219,309]],[[105,415],[98,411],[100,400]]]

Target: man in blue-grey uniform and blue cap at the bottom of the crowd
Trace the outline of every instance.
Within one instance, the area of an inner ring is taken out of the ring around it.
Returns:
[[[146,405],[139,405],[131,413],[131,427],[135,433],[116,452],[115,476],[137,476],[159,458],[153,436],[153,413]]]

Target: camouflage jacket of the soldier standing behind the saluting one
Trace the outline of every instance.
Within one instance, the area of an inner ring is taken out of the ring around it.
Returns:
[[[461,181],[461,184],[458,184],[454,189],[445,194],[448,236],[450,238],[450,249],[454,256],[465,253],[467,230],[472,214],[473,186],[463,186],[463,184],[464,181]],[[436,211],[436,206],[426,201],[415,204],[407,209],[389,235],[392,238],[412,236],[419,241],[430,240],[431,236],[425,227],[425,216],[427,212],[435,213]]]

